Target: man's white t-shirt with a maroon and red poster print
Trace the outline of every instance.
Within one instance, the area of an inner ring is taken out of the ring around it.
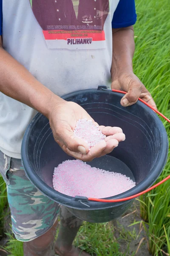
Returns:
[[[118,3],[119,0],[3,0],[3,47],[59,96],[98,85],[109,86],[113,14]],[[129,18],[127,26],[133,25],[135,18]],[[0,93],[3,153],[20,158],[24,132],[35,114],[33,109]]]

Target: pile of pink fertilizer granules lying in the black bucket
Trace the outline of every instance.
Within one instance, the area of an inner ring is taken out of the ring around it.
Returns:
[[[126,175],[91,167],[80,160],[66,160],[54,168],[54,189],[72,197],[106,198],[134,186],[136,183]]]

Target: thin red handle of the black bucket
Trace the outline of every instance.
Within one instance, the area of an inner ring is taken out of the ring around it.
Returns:
[[[104,89],[102,88],[102,90],[108,90],[108,89]],[[115,93],[123,93],[126,94],[127,92],[121,91],[121,90],[112,90]],[[166,116],[164,116],[161,112],[159,112],[157,109],[153,108],[151,105],[149,105],[147,102],[145,102],[143,99],[139,98],[139,101],[144,103],[145,105],[147,105],[149,108],[151,108],[153,111],[155,111],[156,113],[158,113],[161,117],[163,117],[165,120],[167,120],[167,122],[170,123],[170,119],[168,119]],[[136,195],[131,195],[129,197],[126,198],[120,198],[120,199],[113,199],[113,200],[109,200],[109,199],[97,199],[97,198],[88,198],[89,201],[96,201],[96,202],[104,202],[104,203],[116,203],[116,202],[123,202],[123,201],[127,201],[133,198],[138,197],[139,195],[143,195],[147,192],[149,192],[152,189],[155,189],[157,186],[161,185],[162,183],[164,183],[165,181],[167,181],[168,179],[170,179],[170,175],[167,176],[165,179],[161,180],[159,183],[155,184],[154,186],[151,186],[149,189],[146,189]]]

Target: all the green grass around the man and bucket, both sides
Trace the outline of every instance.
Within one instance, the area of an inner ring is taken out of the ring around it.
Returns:
[[[170,118],[170,1],[136,0],[138,20],[135,25],[136,52],[133,59],[134,73],[152,93],[159,111]],[[170,139],[170,125],[162,120]],[[168,159],[160,181],[170,174]],[[143,227],[147,234],[148,247],[153,256],[170,255],[170,180],[152,192],[139,198]],[[6,206],[6,190],[0,177],[0,235],[3,235],[3,209]],[[132,219],[135,225],[135,219]],[[135,227],[134,225],[134,227]],[[130,236],[136,239],[135,232]],[[6,250],[10,256],[22,255],[22,243],[9,236]],[[110,224],[84,224],[75,241],[92,255],[127,256],[121,253],[121,241],[113,238]],[[165,251],[166,254],[163,254]],[[138,253],[136,254],[138,255]]]

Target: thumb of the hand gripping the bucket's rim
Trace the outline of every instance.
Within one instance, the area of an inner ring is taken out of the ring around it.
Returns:
[[[121,99],[121,105],[123,107],[127,107],[135,104],[138,101],[140,94],[141,89],[139,86],[131,87],[125,94],[125,96],[123,96],[123,98]]]

